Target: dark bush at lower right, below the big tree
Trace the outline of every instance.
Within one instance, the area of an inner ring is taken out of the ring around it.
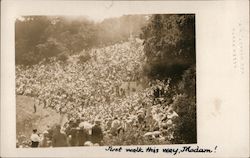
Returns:
[[[178,113],[174,143],[196,143],[196,72],[191,67],[183,74],[179,83],[179,94],[174,96],[173,107]]]

